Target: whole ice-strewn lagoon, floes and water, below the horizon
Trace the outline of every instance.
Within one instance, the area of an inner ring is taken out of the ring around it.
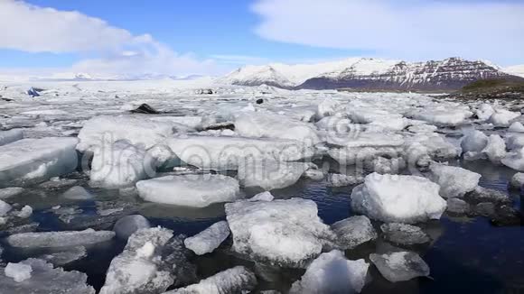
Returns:
[[[0,293],[522,291],[522,106],[0,83]]]

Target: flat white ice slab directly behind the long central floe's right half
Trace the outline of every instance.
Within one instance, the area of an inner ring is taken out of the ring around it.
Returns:
[[[311,124],[291,120],[284,115],[262,112],[239,115],[235,120],[235,132],[253,138],[296,140],[306,144],[320,142]]]

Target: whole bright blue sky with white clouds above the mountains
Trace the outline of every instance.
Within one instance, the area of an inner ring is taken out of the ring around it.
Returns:
[[[246,63],[353,56],[403,60],[463,56],[501,65],[524,63],[524,5],[519,0],[2,1],[0,31],[16,32],[13,27],[23,26],[21,33],[0,32],[3,69],[117,72],[133,69],[128,63],[136,62],[144,71],[176,68],[173,74],[216,74]],[[70,11],[80,13],[72,24],[61,14]],[[32,15],[31,20],[23,20],[26,14]],[[61,21],[54,24],[57,19]],[[54,29],[57,32],[50,32]],[[105,29],[122,32],[97,34]],[[151,40],[136,41],[145,34]],[[80,41],[74,41],[79,36],[95,45],[82,50]],[[128,48],[133,57],[119,55]],[[108,62],[120,69],[109,68]]]

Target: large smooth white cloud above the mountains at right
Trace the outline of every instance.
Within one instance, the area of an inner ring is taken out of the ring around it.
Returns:
[[[524,60],[524,4],[423,0],[257,0],[269,40],[410,60]]]

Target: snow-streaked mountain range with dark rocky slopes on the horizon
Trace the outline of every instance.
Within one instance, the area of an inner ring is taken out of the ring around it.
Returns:
[[[237,69],[219,82],[310,89],[453,90],[484,78],[511,78],[482,60],[406,62],[355,58],[311,65],[270,64]],[[514,77],[516,78],[516,77]]]

